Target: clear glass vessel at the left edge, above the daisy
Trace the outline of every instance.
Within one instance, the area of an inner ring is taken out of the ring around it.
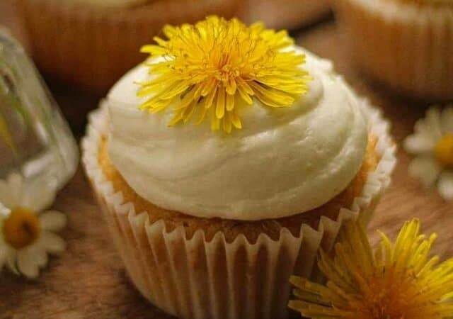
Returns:
[[[27,183],[57,191],[73,175],[76,142],[33,62],[0,28],[0,179],[19,172]]]

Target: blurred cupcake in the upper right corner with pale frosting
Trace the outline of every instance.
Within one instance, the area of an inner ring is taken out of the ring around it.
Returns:
[[[453,99],[452,0],[333,3],[365,72],[406,95]]]

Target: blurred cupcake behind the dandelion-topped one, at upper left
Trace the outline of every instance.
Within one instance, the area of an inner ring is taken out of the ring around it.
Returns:
[[[35,62],[48,74],[103,94],[142,61],[139,47],[165,23],[232,16],[237,0],[21,0]]]

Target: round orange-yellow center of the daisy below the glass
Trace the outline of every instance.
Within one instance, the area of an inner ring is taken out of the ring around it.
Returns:
[[[4,220],[3,233],[5,241],[16,250],[27,247],[40,237],[38,216],[27,208],[14,208]]]

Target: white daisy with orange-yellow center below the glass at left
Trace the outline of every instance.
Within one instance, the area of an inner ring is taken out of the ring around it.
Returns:
[[[66,248],[55,232],[67,218],[58,211],[42,208],[52,203],[53,190],[38,183],[25,186],[20,174],[0,180],[0,270],[6,265],[16,274],[36,278],[47,264],[47,254],[60,254]]]

